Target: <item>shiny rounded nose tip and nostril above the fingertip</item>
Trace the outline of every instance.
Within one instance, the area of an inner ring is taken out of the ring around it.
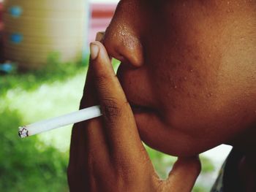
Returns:
[[[133,67],[143,65],[143,47],[140,39],[126,26],[113,26],[113,23],[110,23],[102,43],[108,50],[108,54],[122,63]]]

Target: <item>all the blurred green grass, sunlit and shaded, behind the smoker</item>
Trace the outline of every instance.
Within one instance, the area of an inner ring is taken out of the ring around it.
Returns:
[[[115,69],[118,61],[113,61]],[[0,191],[68,191],[66,169],[71,126],[19,139],[18,126],[78,110],[87,67],[62,64],[52,55],[45,68],[0,76]],[[146,147],[160,177],[176,161]],[[203,173],[214,166],[202,158]],[[203,191],[200,184],[195,192]]]

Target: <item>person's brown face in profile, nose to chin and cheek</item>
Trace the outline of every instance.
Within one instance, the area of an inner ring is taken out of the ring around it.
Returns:
[[[118,78],[146,144],[195,155],[255,124],[255,7],[120,1],[103,43],[122,62]]]

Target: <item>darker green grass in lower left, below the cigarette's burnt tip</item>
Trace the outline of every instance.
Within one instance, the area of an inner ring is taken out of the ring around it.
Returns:
[[[1,109],[0,117],[0,191],[67,191],[67,154],[37,137],[20,139],[18,112]]]

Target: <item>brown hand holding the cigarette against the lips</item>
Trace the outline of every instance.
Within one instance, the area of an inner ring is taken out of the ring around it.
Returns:
[[[168,179],[159,179],[100,42],[91,44],[91,62],[80,107],[94,104],[100,104],[103,116],[77,123],[72,130],[70,191],[191,191],[200,172],[198,158],[178,158]]]

